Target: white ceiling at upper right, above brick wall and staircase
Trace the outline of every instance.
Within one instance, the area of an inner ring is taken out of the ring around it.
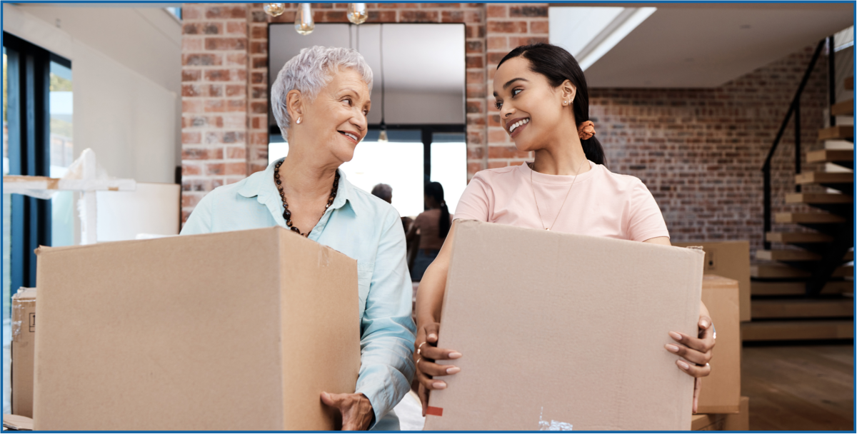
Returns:
[[[851,3],[644,6],[657,10],[586,69],[589,86],[721,86],[854,24]]]

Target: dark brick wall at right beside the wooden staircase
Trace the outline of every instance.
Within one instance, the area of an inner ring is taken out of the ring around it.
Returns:
[[[762,164],[814,48],[713,89],[590,89],[590,118],[609,169],[644,181],[673,241],[750,240],[753,251],[762,247]],[[803,153],[824,146],[817,137],[826,68],[821,56],[801,99]],[[802,169],[813,167],[820,169]],[[791,124],[772,161],[771,184],[775,213],[807,210],[783,203],[794,192]],[[787,228],[800,231],[774,227]]]

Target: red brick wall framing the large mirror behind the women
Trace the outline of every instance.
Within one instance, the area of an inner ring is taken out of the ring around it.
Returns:
[[[183,220],[214,187],[267,165],[267,25],[294,22],[297,4],[286,6],[283,15],[272,18],[261,3],[183,5]],[[488,149],[488,124],[494,135],[503,133],[497,116],[488,119],[494,103],[488,75],[510,47],[548,40],[547,3],[367,6],[367,22],[464,23],[468,177],[489,166],[522,161],[525,155],[510,150],[505,137],[498,141],[501,146]],[[347,3],[312,7],[316,23],[348,22]],[[490,49],[488,39],[493,41]]]

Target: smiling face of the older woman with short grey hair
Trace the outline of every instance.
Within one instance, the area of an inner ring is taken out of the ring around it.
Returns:
[[[357,143],[366,136],[369,115],[369,86],[353,69],[340,69],[321,88],[312,101],[303,99],[300,113],[292,116],[302,118],[301,124],[292,124],[301,141],[320,152],[327,151],[339,163],[351,161]]]

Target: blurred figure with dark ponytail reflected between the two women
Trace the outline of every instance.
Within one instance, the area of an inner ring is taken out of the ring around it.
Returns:
[[[417,216],[405,236],[406,240],[417,246],[416,253],[411,255],[411,251],[408,252],[408,265],[411,269],[411,280],[414,282],[423,279],[423,273],[434,258],[437,258],[452,226],[452,216],[443,199],[443,186],[440,182],[428,182],[423,193],[427,211]]]

